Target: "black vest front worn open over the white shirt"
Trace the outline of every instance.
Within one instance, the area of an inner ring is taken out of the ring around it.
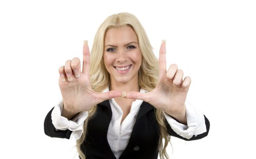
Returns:
[[[81,145],[86,159],[115,159],[107,141],[111,117],[109,101],[98,104],[95,116],[89,120],[85,141]],[[154,107],[143,102],[131,138],[120,159],[157,159],[159,132]]]

